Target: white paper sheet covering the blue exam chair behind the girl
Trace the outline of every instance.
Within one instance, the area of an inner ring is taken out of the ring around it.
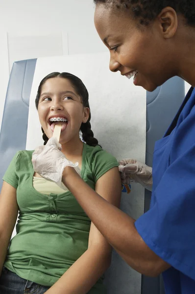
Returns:
[[[89,91],[92,130],[104,149],[117,159],[145,162],[146,91],[120,73],[109,71],[109,54],[82,54],[38,58],[28,117],[26,149],[43,145],[35,98],[40,81],[52,72],[69,72],[82,79]],[[132,184],[122,193],[121,209],[137,219],[144,212],[144,189]],[[140,294],[141,275],[127,266],[116,252],[106,273],[108,294]]]

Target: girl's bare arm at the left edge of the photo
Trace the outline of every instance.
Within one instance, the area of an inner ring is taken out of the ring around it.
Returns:
[[[0,193],[0,273],[18,216],[16,189],[3,182]]]

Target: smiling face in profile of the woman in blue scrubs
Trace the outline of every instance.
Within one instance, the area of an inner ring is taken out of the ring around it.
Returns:
[[[153,91],[175,73],[172,70],[171,43],[165,38],[165,26],[156,20],[139,25],[130,10],[121,11],[97,4],[95,25],[99,37],[110,50],[110,70],[129,76],[134,84]],[[139,25],[139,26],[138,26]]]

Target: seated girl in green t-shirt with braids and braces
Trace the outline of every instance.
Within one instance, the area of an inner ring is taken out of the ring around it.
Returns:
[[[94,138],[82,81],[70,73],[50,73],[41,81],[35,103],[44,145],[60,123],[62,153],[78,162],[77,172],[89,187],[118,206],[118,162]],[[80,130],[86,144],[79,138]],[[66,187],[63,190],[34,172],[32,153],[17,152],[3,177],[0,293],[43,294],[51,286],[47,294],[106,293],[102,275],[110,264],[110,245]],[[78,185],[75,189],[85,193]],[[7,251],[18,211],[17,235]]]

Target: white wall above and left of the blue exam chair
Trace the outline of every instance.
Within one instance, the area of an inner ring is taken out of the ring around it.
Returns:
[[[94,9],[93,0],[0,0],[0,126],[14,60],[106,51]]]

